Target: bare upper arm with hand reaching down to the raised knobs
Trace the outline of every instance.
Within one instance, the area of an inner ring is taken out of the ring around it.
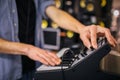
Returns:
[[[116,40],[110,33],[110,30],[107,28],[102,28],[99,25],[90,25],[86,27],[81,24],[75,18],[70,16],[68,13],[54,7],[49,6],[46,9],[46,14],[50,17],[54,22],[56,22],[60,27],[74,31],[80,34],[80,38],[83,41],[84,45],[88,48],[91,46],[93,48],[97,48],[97,37],[104,36],[107,38],[108,42],[112,45],[116,45]]]

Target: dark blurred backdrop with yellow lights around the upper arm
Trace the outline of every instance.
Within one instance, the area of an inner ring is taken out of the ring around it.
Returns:
[[[58,8],[68,12],[84,25],[97,24],[109,28],[113,36],[120,42],[118,38],[120,35],[120,0],[55,0],[55,2]],[[60,29],[53,21],[43,18],[42,29],[49,27]],[[79,42],[78,34],[64,29],[60,29],[60,31],[60,48]]]

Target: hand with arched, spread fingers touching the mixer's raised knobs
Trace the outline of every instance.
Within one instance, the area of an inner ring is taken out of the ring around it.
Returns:
[[[108,42],[114,47],[117,44],[117,41],[111,35],[110,30],[99,25],[86,26],[82,30],[79,30],[79,34],[80,39],[87,48],[93,47],[96,49],[98,37],[106,37]]]

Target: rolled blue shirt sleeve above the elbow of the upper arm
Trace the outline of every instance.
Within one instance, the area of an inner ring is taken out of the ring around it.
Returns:
[[[45,10],[50,5],[55,6],[54,0],[38,0],[38,10],[44,18],[48,18],[46,13],[45,13]]]

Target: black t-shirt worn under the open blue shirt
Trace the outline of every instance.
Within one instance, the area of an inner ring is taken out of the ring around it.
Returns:
[[[35,4],[33,0],[16,0],[19,19],[19,39],[22,43],[34,45],[35,35]],[[35,69],[35,62],[22,56],[23,73]]]

